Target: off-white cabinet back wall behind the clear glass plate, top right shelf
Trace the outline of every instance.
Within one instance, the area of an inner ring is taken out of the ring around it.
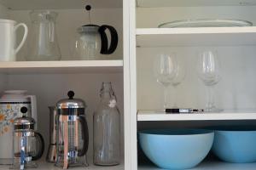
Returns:
[[[137,27],[157,27],[174,20],[195,19],[238,19],[256,24],[255,16],[256,6],[137,8]]]

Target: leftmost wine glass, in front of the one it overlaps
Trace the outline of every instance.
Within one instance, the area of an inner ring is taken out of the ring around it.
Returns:
[[[159,54],[154,60],[154,76],[164,87],[164,109],[167,108],[167,88],[172,84],[175,76],[175,54]]]

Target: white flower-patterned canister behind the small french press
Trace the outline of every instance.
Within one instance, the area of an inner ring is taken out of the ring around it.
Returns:
[[[22,116],[20,108],[23,106],[28,109],[26,116],[38,122],[35,95],[27,95],[26,90],[8,90],[0,98],[0,164],[11,162],[13,122],[15,118]]]

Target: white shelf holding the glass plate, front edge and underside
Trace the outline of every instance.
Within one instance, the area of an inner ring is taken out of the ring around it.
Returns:
[[[256,45],[256,26],[138,28],[138,47]]]

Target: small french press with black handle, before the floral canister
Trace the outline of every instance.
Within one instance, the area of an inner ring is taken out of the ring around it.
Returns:
[[[44,153],[44,139],[40,133],[34,131],[35,120],[25,116],[26,107],[20,108],[22,117],[14,121],[13,139],[13,166],[12,169],[25,169],[38,167],[34,162],[40,159]]]

